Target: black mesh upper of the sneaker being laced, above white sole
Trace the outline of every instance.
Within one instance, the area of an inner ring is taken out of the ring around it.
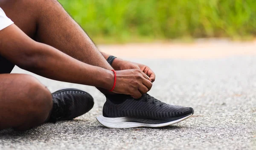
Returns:
[[[192,113],[192,108],[169,105],[148,94],[144,94],[140,99],[133,99],[131,96],[121,94],[106,97],[107,101],[103,107],[103,116],[105,117],[169,119]]]

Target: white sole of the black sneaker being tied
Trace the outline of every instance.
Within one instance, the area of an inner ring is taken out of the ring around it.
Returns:
[[[189,116],[186,116],[181,119],[177,119],[172,122],[166,122],[161,124],[146,124],[146,123],[140,123],[140,122],[128,122],[129,117],[119,117],[119,118],[108,118],[104,116],[98,116],[96,119],[100,124],[102,124],[105,127],[109,128],[131,128],[131,127],[166,127],[168,125],[172,125],[178,122],[181,122],[185,119],[188,119],[193,114],[190,114]]]

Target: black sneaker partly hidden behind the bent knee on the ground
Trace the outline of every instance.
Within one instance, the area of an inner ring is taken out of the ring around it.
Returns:
[[[93,97],[82,90],[66,88],[52,93],[52,113],[48,122],[71,120],[93,108]]]

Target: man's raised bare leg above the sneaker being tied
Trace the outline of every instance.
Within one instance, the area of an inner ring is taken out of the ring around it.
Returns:
[[[0,0],[0,7],[22,31],[38,42],[51,45],[81,62],[113,69],[57,0]]]

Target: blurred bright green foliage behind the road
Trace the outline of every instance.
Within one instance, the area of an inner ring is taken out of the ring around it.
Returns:
[[[97,42],[256,35],[256,0],[59,0]]]

